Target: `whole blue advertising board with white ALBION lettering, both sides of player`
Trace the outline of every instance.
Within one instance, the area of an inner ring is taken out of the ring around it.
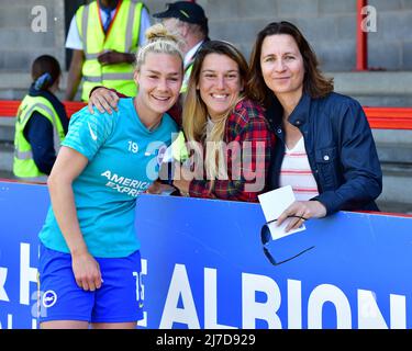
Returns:
[[[1,328],[36,327],[37,233],[48,203],[44,185],[0,183]],[[141,196],[140,327],[412,327],[411,217],[308,220],[307,230],[267,245],[286,261],[278,265],[264,254],[264,223],[259,204]]]

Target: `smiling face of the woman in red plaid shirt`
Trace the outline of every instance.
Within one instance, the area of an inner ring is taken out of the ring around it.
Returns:
[[[226,55],[207,55],[200,69],[197,89],[210,117],[221,117],[232,107],[243,89],[238,65]]]

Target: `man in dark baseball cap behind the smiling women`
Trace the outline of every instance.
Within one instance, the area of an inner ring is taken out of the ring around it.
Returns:
[[[185,78],[181,92],[186,92],[196,54],[202,44],[209,41],[208,18],[203,8],[190,1],[176,1],[166,4],[166,10],[153,14],[160,19],[170,31],[177,32],[183,39],[181,47],[185,53]]]

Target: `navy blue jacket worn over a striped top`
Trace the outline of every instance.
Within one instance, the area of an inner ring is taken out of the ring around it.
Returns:
[[[285,155],[281,106],[268,109],[277,135],[269,173],[269,188],[279,188]],[[379,211],[375,199],[382,191],[382,172],[374,137],[361,105],[335,92],[312,99],[303,93],[289,122],[303,135],[320,201],[330,215],[341,210]]]

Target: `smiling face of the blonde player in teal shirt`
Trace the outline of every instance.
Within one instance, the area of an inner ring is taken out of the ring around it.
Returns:
[[[181,58],[177,55],[148,53],[138,71],[136,106],[138,113],[156,118],[177,101],[182,80]]]

